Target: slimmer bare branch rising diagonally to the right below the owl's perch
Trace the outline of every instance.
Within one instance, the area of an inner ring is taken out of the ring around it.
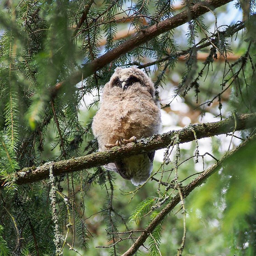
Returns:
[[[253,136],[252,139],[248,139],[241,143],[236,149],[231,151],[230,153],[226,154],[221,160],[211,166],[209,169],[205,170],[201,173],[195,180],[189,183],[187,186],[182,188],[182,195],[183,197],[187,197],[191,191],[193,191],[196,187],[200,186],[208,177],[210,177],[213,173],[219,170],[223,165],[227,162],[227,160],[236,159],[237,152],[241,149],[245,148],[255,142],[255,137]],[[136,253],[140,246],[146,241],[146,239],[150,236],[150,233],[156,228],[156,226],[165,218],[170,211],[174,209],[174,207],[181,201],[180,195],[177,194],[175,197],[172,198],[171,202],[166,205],[165,208],[161,210],[161,212],[153,219],[153,221],[143,230],[142,234],[138,237],[138,239],[134,242],[134,244],[127,250],[122,256],[131,256]]]

